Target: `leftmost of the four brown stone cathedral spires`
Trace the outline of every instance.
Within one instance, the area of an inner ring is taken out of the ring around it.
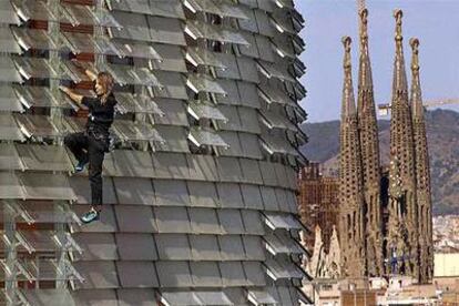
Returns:
[[[343,38],[343,44],[345,47],[345,80],[340,126],[339,239],[341,245],[343,274],[348,277],[360,277],[366,274],[364,198],[357,110],[350,63],[350,43],[351,40],[349,37]]]

